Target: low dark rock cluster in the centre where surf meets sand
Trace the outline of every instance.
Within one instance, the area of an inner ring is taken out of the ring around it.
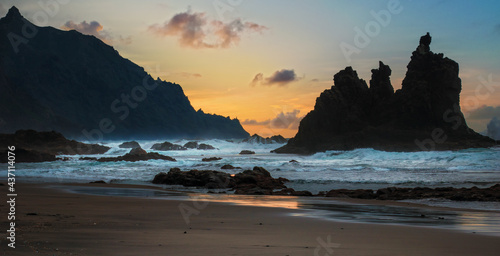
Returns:
[[[183,185],[186,187],[204,187],[233,189],[235,194],[272,195],[277,189],[285,189],[284,178],[275,179],[262,167],[254,167],[231,176],[219,171],[181,171],[172,168],[168,173],[159,173],[154,179],[154,184]]]

